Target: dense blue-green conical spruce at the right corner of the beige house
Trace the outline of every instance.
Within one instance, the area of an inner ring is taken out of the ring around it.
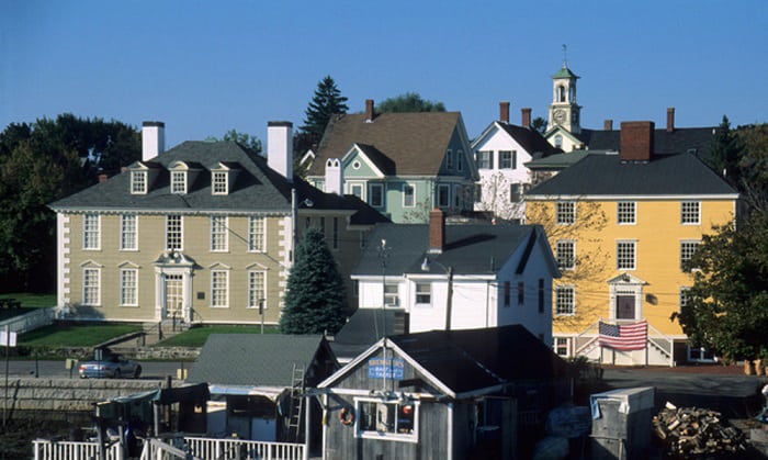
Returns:
[[[345,284],[318,228],[309,228],[296,247],[280,317],[283,334],[337,333],[345,324]]]

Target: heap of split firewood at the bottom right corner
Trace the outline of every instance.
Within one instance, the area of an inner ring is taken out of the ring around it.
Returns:
[[[719,412],[698,407],[676,407],[667,403],[653,417],[656,436],[667,446],[667,455],[697,458],[702,455],[746,450],[746,436],[727,426]]]

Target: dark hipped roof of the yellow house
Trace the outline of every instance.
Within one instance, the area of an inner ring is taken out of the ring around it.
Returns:
[[[737,198],[727,182],[692,154],[657,155],[647,162],[626,162],[615,153],[589,154],[527,194],[528,199],[547,195]]]

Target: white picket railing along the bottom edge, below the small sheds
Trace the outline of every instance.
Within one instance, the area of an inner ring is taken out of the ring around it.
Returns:
[[[179,439],[181,441],[181,439]],[[184,448],[167,445],[157,439],[148,439],[142,452],[142,460],[155,459],[205,459],[205,460],[304,460],[306,449],[303,444],[249,441],[244,439],[216,439],[184,437]],[[34,460],[98,459],[98,442],[32,441]],[[118,444],[106,449],[105,460],[123,460]]]

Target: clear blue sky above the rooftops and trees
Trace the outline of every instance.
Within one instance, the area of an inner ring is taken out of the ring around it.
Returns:
[[[71,112],[166,144],[301,126],[326,75],[350,111],[406,91],[461,111],[471,137],[510,101],[546,116],[550,76],[581,77],[581,124],[766,122],[768,1],[0,2],[0,127]]]

